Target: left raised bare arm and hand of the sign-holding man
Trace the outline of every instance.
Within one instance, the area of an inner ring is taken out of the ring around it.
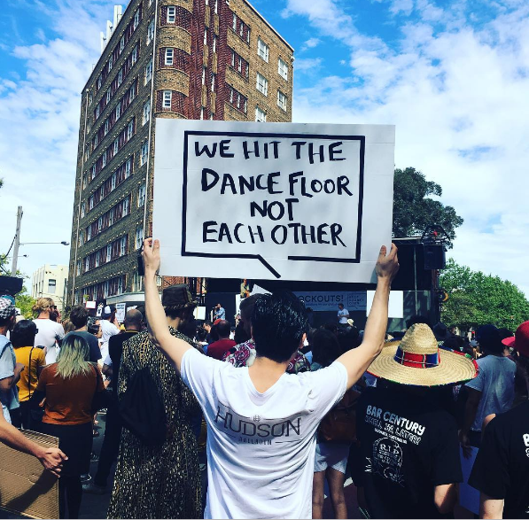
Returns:
[[[159,300],[156,287],[156,272],[159,269],[159,241],[152,241],[152,238],[145,240],[142,255],[145,265],[145,311],[149,329],[159,349],[166,354],[169,361],[180,372],[183,354],[193,347],[182,339],[171,336],[167,328],[166,314]]]

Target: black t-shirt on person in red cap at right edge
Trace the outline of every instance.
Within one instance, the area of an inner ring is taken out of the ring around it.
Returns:
[[[488,423],[469,484],[504,500],[503,518],[529,518],[529,401]]]

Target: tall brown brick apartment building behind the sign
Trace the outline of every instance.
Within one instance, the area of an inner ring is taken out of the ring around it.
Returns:
[[[82,91],[68,303],[138,301],[156,118],[291,121],[293,50],[245,0],[131,0]]]

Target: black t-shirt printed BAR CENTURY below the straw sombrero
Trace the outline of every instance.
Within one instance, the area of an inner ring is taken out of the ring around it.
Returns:
[[[435,393],[368,388],[356,409],[363,485],[373,518],[439,518],[436,485],[463,481],[455,419]]]

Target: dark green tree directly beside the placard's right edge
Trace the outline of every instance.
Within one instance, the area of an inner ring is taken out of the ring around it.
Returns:
[[[439,200],[442,188],[436,182],[426,181],[424,174],[415,168],[395,169],[393,188],[393,237],[421,235],[432,224],[443,227],[450,240],[455,238],[455,228],[463,219],[452,206],[444,206]]]

